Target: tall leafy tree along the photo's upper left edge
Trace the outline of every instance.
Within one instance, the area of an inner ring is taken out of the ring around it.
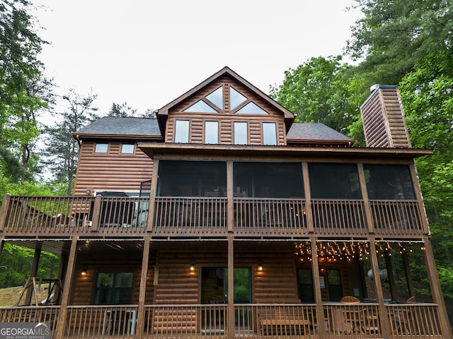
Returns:
[[[50,101],[49,81],[38,60],[45,41],[33,30],[26,0],[0,3],[0,161],[13,180],[30,179],[37,169],[33,146],[40,131],[36,116]],[[17,157],[24,170],[16,166]],[[27,173],[28,172],[28,173]]]

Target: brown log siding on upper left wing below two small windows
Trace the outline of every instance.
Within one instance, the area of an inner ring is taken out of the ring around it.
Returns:
[[[122,154],[121,142],[110,141],[108,153],[94,153],[96,142],[81,145],[74,195],[94,191],[139,191],[140,183],[150,180],[153,160],[135,147],[135,154]]]

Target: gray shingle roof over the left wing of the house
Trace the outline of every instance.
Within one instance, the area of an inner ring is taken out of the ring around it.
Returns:
[[[103,117],[82,127],[74,134],[160,136],[161,131],[157,119]]]

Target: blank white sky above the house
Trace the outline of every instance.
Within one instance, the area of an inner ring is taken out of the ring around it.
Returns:
[[[34,0],[40,59],[63,95],[159,109],[229,66],[264,93],[311,57],[343,52],[353,0]]]

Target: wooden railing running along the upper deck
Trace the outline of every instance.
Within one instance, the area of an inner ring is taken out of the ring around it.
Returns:
[[[228,231],[228,199],[156,197],[149,219],[149,198],[8,196],[0,213],[0,231],[8,235],[59,236],[222,236]],[[422,236],[423,211],[417,201],[370,201],[372,225],[361,200],[299,198],[233,199],[232,227],[238,236]],[[309,218],[311,215],[311,218]],[[310,225],[312,229],[310,230]]]

